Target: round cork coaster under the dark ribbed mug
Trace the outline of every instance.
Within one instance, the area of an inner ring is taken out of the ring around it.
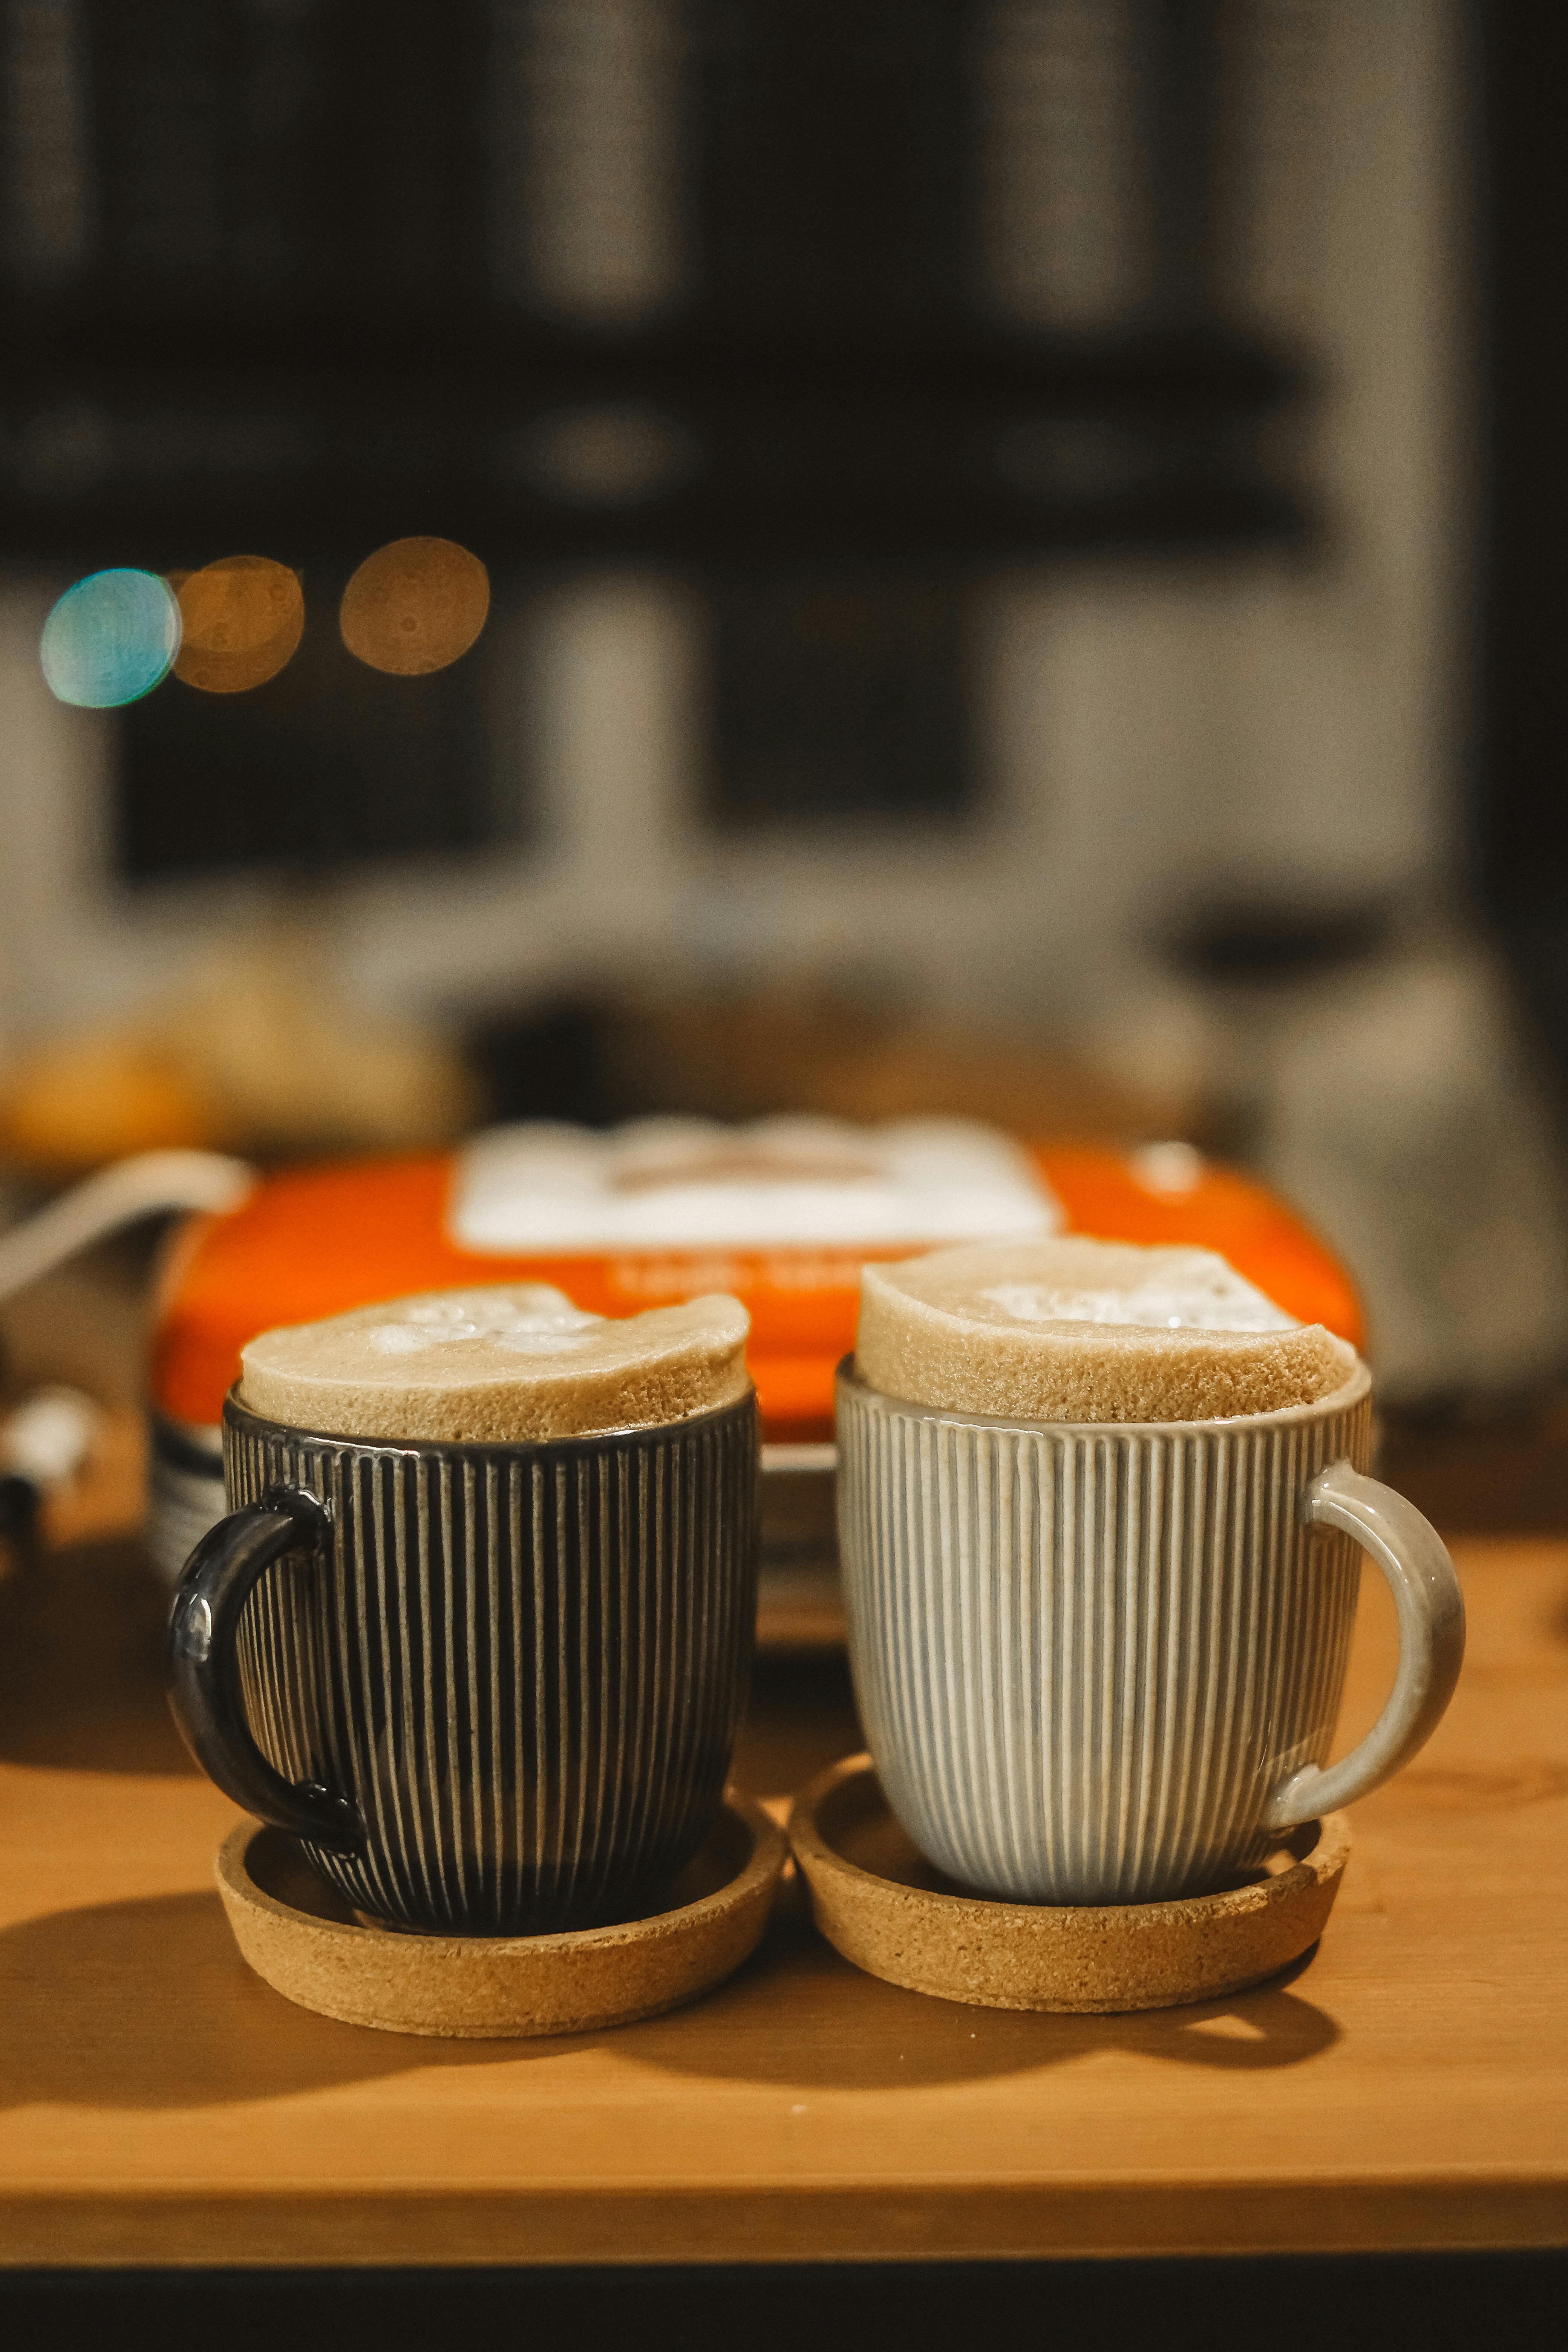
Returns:
[[[242,1820],[219,1893],[242,1957],[275,1992],[346,2025],[463,2042],[630,2025],[708,1992],[757,1947],[788,1844],[733,1790],[670,1907],[571,1936],[409,1936],[357,1919],[294,1839]]]

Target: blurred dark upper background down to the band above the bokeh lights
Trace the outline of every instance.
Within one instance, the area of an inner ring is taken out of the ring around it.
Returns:
[[[5,546],[1298,532],[1218,294],[1267,7],[2,0]]]

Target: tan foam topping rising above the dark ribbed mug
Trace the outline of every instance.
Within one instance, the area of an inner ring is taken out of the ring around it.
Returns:
[[[588,1315],[545,1282],[425,1291],[263,1331],[240,1402],[331,1437],[505,1444],[651,1428],[745,1395],[738,1298]]]

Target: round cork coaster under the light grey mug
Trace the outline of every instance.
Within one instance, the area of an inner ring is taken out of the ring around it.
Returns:
[[[1349,1858],[1345,1813],[1291,1830],[1246,1886],[1178,1903],[990,1903],[952,1886],[893,1820],[870,1757],[811,1780],[790,1844],[827,1943],[889,1985],[978,2009],[1175,2009],[1262,1983],[1324,1933]]]

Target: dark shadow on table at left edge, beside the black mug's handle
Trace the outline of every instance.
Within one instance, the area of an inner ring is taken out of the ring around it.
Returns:
[[[0,1581],[0,1757],[193,1773],[165,1700],[169,1588],[139,1543],[21,1557]]]

